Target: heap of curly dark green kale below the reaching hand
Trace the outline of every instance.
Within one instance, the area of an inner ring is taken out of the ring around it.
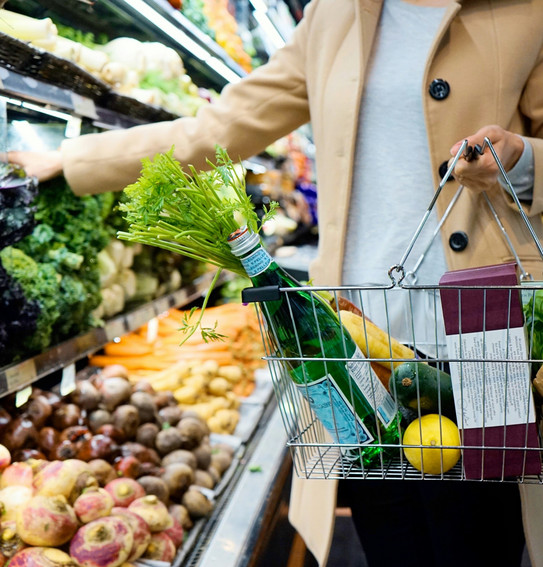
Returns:
[[[76,197],[63,180],[40,185],[32,232],[0,251],[5,272],[39,315],[24,342],[0,352],[0,365],[97,324],[92,314],[101,302],[96,256],[111,237],[104,220],[112,203],[106,194]],[[3,298],[9,294],[2,290]]]

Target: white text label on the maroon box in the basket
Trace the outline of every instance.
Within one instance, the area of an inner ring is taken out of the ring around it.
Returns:
[[[450,362],[456,416],[462,427],[535,421],[530,364],[521,362],[526,360],[524,327],[448,335],[447,350],[451,359],[462,360]]]

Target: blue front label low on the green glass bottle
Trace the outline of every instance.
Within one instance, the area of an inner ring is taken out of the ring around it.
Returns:
[[[295,383],[295,386],[336,443],[367,445],[373,442],[374,437],[330,375],[309,384]]]

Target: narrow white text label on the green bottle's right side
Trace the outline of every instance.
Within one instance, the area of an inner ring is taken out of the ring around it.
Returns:
[[[396,404],[358,347],[347,362],[347,369],[381,423],[388,427],[396,416]]]

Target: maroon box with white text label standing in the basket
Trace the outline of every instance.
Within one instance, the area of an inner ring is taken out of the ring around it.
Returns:
[[[440,295],[466,478],[539,474],[520,290],[492,287],[516,286],[516,265],[451,271],[439,284],[459,286]]]

